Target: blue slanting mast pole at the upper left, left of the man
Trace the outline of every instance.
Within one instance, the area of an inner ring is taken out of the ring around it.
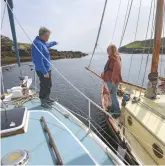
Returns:
[[[17,63],[18,63],[18,66],[20,67],[21,66],[20,65],[20,56],[19,56],[18,45],[17,45],[14,17],[13,17],[13,13],[12,13],[13,0],[4,0],[4,1],[7,3],[7,10],[8,10],[10,27],[11,27],[12,37],[13,37],[14,49],[15,49],[15,53],[16,53],[16,57],[17,57]]]

